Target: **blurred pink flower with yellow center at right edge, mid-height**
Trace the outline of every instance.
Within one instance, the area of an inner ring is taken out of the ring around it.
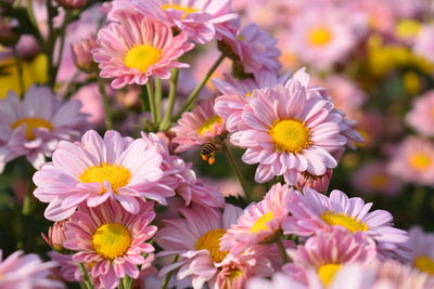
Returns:
[[[405,139],[393,153],[388,171],[406,182],[434,184],[434,144],[417,136]]]

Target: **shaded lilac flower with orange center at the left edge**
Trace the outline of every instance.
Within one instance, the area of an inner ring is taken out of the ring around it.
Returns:
[[[88,124],[80,107],[76,101],[62,102],[47,87],[30,87],[23,101],[10,91],[0,100],[0,172],[20,156],[38,169],[59,141],[77,140]]]

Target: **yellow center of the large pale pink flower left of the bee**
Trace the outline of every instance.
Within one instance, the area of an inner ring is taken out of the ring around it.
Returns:
[[[81,183],[100,183],[105,181],[110,183],[114,193],[117,193],[119,187],[126,186],[131,180],[131,172],[124,166],[117,166],[103,162],[102,165],[89,167],[78,178]],[[104,194],[105,188],[101,192]]]

